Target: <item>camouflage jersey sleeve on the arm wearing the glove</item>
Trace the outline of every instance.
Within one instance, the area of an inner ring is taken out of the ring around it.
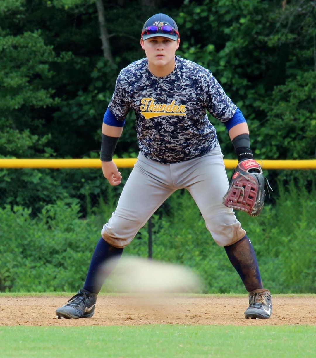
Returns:
[[[229,121],[237,110],[237,106],[226,95],[211,72],[207,76],[205,101],[209,113],[221,122]]]

